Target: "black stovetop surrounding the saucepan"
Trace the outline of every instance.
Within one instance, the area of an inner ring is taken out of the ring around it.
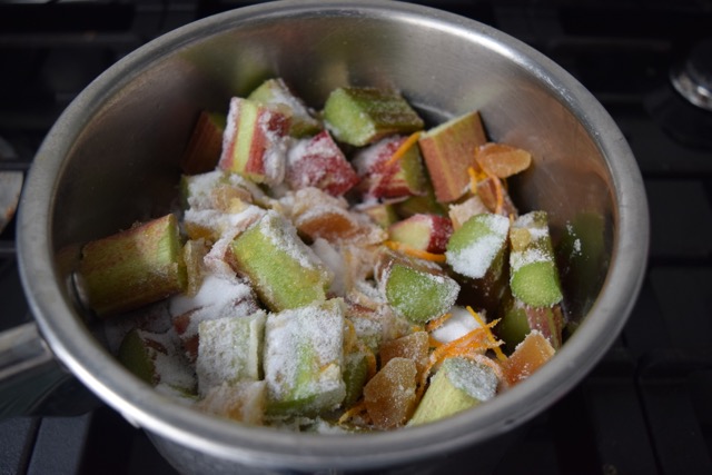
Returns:
[[[0,172],[26,171],[59,112],[121,56],[249,3],[0,3]],[[572,72],[627,138],[650,200],[647,275],[621,337],[525,426],[494,474],[712,473],[712,112],[686,103],[669,81],[671,68],[712,38],[712,0],[419,3],[491,24]],[[31,318],[13,221],[0,235],[0,329]],[[465,453],[442,473],[474,467]],[[176,472],[141,431],[97,404],[69,417],[0,422],[0,473]]]

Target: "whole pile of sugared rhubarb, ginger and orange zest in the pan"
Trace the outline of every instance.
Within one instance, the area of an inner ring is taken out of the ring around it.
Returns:
[[[270,79],[205,111],[176,211],[87,244],[110,349],[206,413],[294,431],[414,426],[485,404],[562,344],[532,157],[473,111],[427,128],[392,90],[322,110]]]

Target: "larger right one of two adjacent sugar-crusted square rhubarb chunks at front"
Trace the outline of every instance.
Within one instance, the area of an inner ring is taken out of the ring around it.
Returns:
[[[270,412],[309,414],[336,408],[346,395],[343,354],[342,299],[269,314],[264,368]]]

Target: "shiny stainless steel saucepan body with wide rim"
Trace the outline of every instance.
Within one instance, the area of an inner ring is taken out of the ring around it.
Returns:
[[[554,237],[600,217],[601,253],[568,276],[582,321],[536,375],[461,416],[393,433],[320,436],[245,427],[186,409],[121,368],[68,284],[80,245],[157,216],[175,197],[196,115],[263,79],[287,79],[319,106],[336,86],[393,86],[433,120],[482,112],[488,135],[530,149],[513,182],[522,209],[550,211]],[[127,56],[65,111],[40,148],[20,205],[22,280],[38,326],[81,382],[159,442],[186,473],[366,469],[414,464],[511,433],[583,378],[625,323],[641,286],[647,206],[630,148],[562,68],[477,22],[389,1],[267,2],[211,17]],[[194,461],[194,462],[191,462]]]

